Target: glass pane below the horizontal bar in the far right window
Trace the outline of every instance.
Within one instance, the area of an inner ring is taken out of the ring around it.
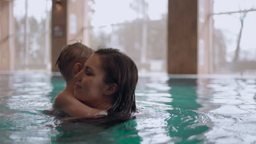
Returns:
[[[256,72],[255,17],[256,11],[213,16],[216,73]]]

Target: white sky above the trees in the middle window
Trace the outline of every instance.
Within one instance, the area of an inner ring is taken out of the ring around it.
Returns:
[[[140,15],[130,8],[130,3],[133,2],[134,0],[95,0],[92,8],[96,11],[92,17],[92,25],[106,26],[135,20]],[[162,14],[167,13],[167,0],[147,0],[147,2],[149,3],[148,16],[150,20],[159,20]]]

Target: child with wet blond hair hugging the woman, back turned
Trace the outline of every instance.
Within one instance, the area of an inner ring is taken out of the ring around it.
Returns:
[[[67,45],[62,49],[56,65],[66,81],[66,88],[57,94],[53,104],[55,110],[64,111],[74,117],[94,117],[101,113],[101,110],[93,109],[73,96],[74,86],[77,82],[74,75],[83,69],[84,62],[92,52],[92,49],[81,43]],[[56,115],[56,111],[54,113]]]

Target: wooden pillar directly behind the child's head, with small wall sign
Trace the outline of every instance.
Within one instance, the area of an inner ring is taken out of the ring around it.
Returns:
[[[63,46],[74,43],[72,40],[83,40],[84,36],[84,1],[53,0],[52,12],[52,71]]]

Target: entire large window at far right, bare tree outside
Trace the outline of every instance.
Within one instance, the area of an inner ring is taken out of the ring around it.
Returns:
[[[256,74],[256,1],[214,0],[215,73]]]

